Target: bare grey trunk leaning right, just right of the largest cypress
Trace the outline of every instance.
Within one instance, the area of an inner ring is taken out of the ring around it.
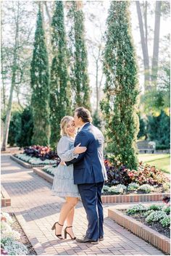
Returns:
[[[150,74],[149,74],[149,53],[148,53],[148,46],[146,44],[146,37],[143,31],[143,18],[141,14],[141,7],[140,1],[135,1],[137,14],[138,14],[138,22],[141,34],[141,47],[143,51],[143,66],[144,66],[144,83],[145,83],[145,90],[149,90],[151,88],[150,85]]]

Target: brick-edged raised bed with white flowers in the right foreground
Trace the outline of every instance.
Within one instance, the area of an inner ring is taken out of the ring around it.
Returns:
[[[159,205],[159,207],[160,206],[161,205]],[[132,205],[131,207],[130,205],[115,205],[109,208],[108,217],[112,218],[112,220],[114,220],[116,223],[133,232],[133,234],[135,234],[136,236],[141,237],[142,239],[148,241],[150,244],[154,245],[158,249],[161,249],[162,252],[166,252],[167,254],[170,255],[170,239],[166,236],[167,232],[165,233],[165,235],[161,234],[161,229],[158,229],[158,232],[157,229],[154,230],[154,226],[146,226],[142,221],[140,222],[133,218],[133,215],[127,215],[126,211],[128,210],[128,208],[130,208],[130,212],[136,212],[136,214],[137,212],[143,212],[144,214],[145,211],[147,214],[149,210],[155,209],[155,205],[153,206],[151,203],[145,205]],[[158,213],[157,218],[155,216],[155,218],[152,219],[159,220],[160,218],[160,220],[162,220],[162,218],[164,219],[164,216],[165,215],[161,215],[160,213]],[[162,225],[162,223],[160,224]]]

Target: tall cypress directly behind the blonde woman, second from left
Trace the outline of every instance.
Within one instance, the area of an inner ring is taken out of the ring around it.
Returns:
[[[62,1],[56,1],[51,22],[52,65],[51,65],[51,146],[57,146],[60,138],[60,120],[70,115],[70,79],[68,74],[67,41],[64,29],[64,7]]]

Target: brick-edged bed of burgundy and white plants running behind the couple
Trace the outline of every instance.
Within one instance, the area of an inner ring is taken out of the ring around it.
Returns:
[[[108,182],[102,190],[104,203],[162,201],[169,196],[169,179],[155,167],[143,165],[141,162],[136,171],[114,161],[112,163],[104,160],[104,164],[108,176]],[[41,170],[35,168],[34,171],[52,183],[57,165],[44,166]]]

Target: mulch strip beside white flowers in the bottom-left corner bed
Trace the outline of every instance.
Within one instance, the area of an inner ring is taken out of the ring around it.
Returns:
[[[25,232],[23,231],[22,227],[20,226],[20,223],[18,222],[14,213],[10,213],[9,215],[12,217],[12,220],[14,221],[14,223],[11,224],[12,228],[15,231],[18,231],[20,233],[20,242],[22,244],[25,244],[25,246],[28,248],[28,255],[37,255],[35,249],[33,248],[32,244],[28,240],[28,237],[26,236]]]

